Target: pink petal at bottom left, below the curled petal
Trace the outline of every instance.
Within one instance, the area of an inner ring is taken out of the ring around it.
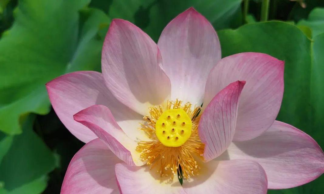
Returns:
[[[119,193],[114,172],[119,162],[100,139],[90,141],[72,158],[61,194]]]

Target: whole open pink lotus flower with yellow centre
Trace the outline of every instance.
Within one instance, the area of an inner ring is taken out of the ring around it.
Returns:
[[[69,164],[62,194],[259,194],[324,171],[318,144],[275,121],[284,61],[252,52],[221,59],[214,28],[193,8],[157,45],[113,20],[101,62],[102,73],[46,84],[58,117],[87,143]]]

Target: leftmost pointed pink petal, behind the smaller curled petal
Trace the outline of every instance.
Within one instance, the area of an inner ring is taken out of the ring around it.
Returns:
[[[142,116],[123,105],[109,92],[101,73],[95,71],[69,73],[48,82],[46,88],[57,116],[81,141],[87,143],[97,138],[97,135],[76,122],[73,115],[94,104],[109,107],[125,133],[145,140],[146,135],[135,127],[143,121]]]

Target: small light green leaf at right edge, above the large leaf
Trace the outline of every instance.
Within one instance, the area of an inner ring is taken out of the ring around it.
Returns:
[[[300,20],[298,26],[307,26],[312,30],[312,37],[324,33],[324,8],[315,8],[307,20]]]

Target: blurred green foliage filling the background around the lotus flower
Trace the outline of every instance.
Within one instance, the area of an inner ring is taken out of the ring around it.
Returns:
[[[0,0],[0,194],[59,193],[83,143],[50,109],[45,83],[67,72],[100,71],[101,46],[113,18],[141,27],[155,41],[168,22],[193,6],[217,30],[223,57],[263,52],[285,61],[278,120],[324,147],[324,1],[271,0]],[[323,176],[271,194],[322,193]]]

